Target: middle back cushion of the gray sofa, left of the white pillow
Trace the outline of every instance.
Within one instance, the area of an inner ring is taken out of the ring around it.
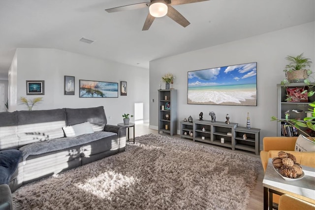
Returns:
[[[17,135],[19,146],[40,141],[37,138],[28,138],[28,134],[45,133],[65,126],[65,109],[18,111]],[[25,138],[24,138],[25,137]]]

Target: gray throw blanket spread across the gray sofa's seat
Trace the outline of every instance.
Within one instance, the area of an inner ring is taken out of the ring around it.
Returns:
[[[20,148],[22,151],[23,163],[25,164],[26,158],[29,155],[39,155],[46,152],[57,151],[61,149],[70,148],[72,146],[82,145],[85,143],[89,143],[95,140],[100,140],[106,137],[116,136],[115,133],[106,132],[106,131],[98,131],[93,134],[83,134],[74,138],[61,138],[47,141],[34,142],[27,145],[24,145]]]

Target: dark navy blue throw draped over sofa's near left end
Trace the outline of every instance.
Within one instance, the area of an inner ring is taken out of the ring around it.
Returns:
[[[21,159],[22,152],[17,149],[0,151],[0,184],[9,184],[11,175]]]

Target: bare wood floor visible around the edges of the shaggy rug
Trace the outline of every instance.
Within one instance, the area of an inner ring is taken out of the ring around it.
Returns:
[[[150,129],[149,124],[146,124],[146,123],[135,125],[135,136],[136,137],[142,136],[145,134],[158,134],[158,131]],[[180,135],[175,135],[175,136],[173,136],[173,138],[181,139]],[[182,139],[182,140],[185,140],[185,139]],[[216,147],[216,145],[213,145],[213,144],[207,144],[207,143],[203,143],[203,142],[196,142],[196,143]],[[221,149],[232,151],[229,148],[224,148],[221,146],[217,146],[217,147],[220,147]],[[246,152],[246,151],[242,151],[242,150],[235,150],[233,152],[247,154],[247,155],[251,155],[253,157],[259,157],[255,154],[251,153],[251,152]],[[257,182],[255,185],[255,188],[251,192],[250,201],[249,201],[249,204],[247,206],[247,210],[262,210],[263,209],[263,187],[262,187],[263,177],[264,177],[264,172],[263,172],[263,168],[261,166],[261,168],[259,170],[259,175],[257,177]]]

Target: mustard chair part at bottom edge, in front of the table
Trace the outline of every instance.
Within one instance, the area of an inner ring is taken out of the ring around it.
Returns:
[[[315,205],[284,194],[280,196],[278,210],[315,210]]]

